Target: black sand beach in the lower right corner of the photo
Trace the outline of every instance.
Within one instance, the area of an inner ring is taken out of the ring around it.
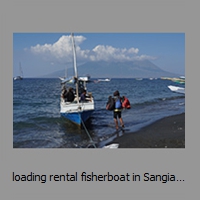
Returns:
[[[185,148],[185,113],[160,119],[111,143],[119,148]]]

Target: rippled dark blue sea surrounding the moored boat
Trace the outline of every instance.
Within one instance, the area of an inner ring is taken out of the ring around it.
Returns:
[[[161,79],[112,79],[90,82],[87,89],[95,99],[95,111],[87,131],[60,116],[61,84],[57,79],[23,79],[13,82],[14,148],[87,148],[117,137],[112,111],[105,105],[109,95],[119,90],[127,96],[131,109],[124,110],[124,134],[136,131],[158,119],[185,112],[185,95],[173,93],[168,85],[183,86]]]

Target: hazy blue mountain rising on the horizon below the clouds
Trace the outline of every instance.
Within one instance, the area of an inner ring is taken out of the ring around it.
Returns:
[[[73,75],[73,70],[73,68],[68,69],[69,76]],[[90,74],[92,78],[159,78],[162,76],[177,76],[177,74],[160,69],[148,60],[134,62],[88,62],[78,66],[78,74],[79,76]],[[63,75],[64,70],[61,70],[48,76],[58,77]]]

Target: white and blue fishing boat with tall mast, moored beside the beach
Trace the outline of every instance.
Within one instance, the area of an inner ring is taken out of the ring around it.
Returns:
[[[60,100],[60,114],[62,117],[70,120],[71,122],[81,125],[84,122],[86,122],[91,114],[94,111],[94,99],[92,96],[92,93],[87,92],[87,101],[82,102],[80,100],[80,90],[86,88],[86,81],[79,80],[78,79],[78,72],[77,72],[77,66],[76,66],[76,50],[75,50],[75,43],[74,43],[74,35],[71,34],[72,39],[72,48],[73,48],[73,54],[74,54],[74,83],[75,83],[75,99],[73,102],[67,102],[65,99],[61,96]],[[68,80],[70,78],[66,79],[65,82],[62,82],[62,84],[67,84]]]

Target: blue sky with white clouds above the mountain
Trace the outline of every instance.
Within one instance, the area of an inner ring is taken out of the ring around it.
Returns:
[[[185,75],[184,33],[75,33],[77,63],[148,59]],[[72,67],[70,33],[13,33],[13,76],[38,77]]]

